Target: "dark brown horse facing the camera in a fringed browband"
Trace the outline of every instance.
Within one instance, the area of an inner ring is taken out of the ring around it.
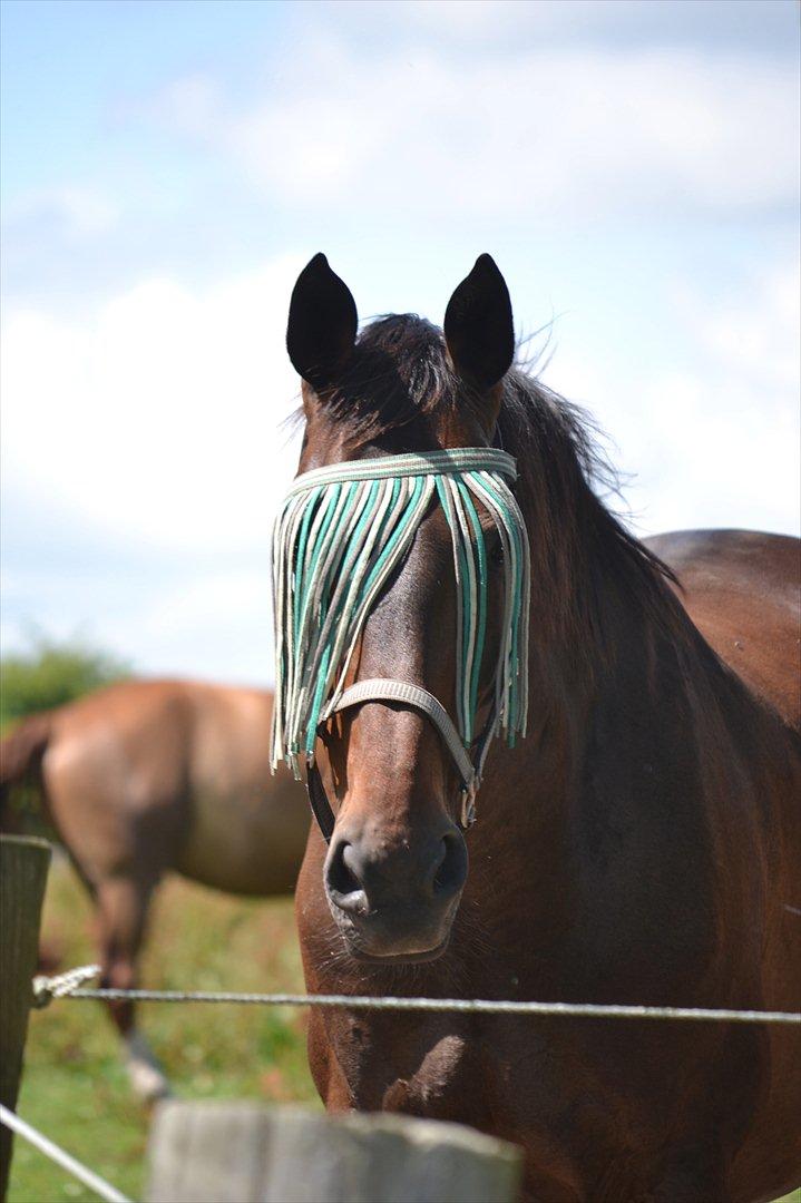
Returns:
[[[512,367],[488,256],[444,334],[403,315],[356,339],[355,312],[316,256],[287,336],[301,469],[491,444],[516,456],[530,717],[514,751],[489,753],[469,871],[434,725],[376,700],[328,722],[318,758],[337,823],[328,848],[313,828],[296,895],[309,989],[801,1009],[797,543],[630,535],[591,487],[576,411]],[[453,716],[455,608],[432,504],[351,680],[405,678]],[[523,1145],[529,1199],[756,1201],[801,1179],[797,1027],[315,1011],[309,1049],[331,1109]]]

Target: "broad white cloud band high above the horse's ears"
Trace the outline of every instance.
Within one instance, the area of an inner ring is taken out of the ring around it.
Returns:
[[[797,195],[793,60],[533,37],[465,60],[423,42],[366,58],[309,31],[303,70],[248,109],[198,77],[158,109],[271,197],[309,209],[595,221],[736,214]]]

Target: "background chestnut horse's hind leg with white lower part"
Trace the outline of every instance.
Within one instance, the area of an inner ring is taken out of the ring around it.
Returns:
[[[150,896],[158,877],[113,877],[97,884],[101,924],[102,985],[132,990]],[[134,1003],[109,1002],[112,1019],[125,1044],[125,1063],[134,1091],[146,1102],[170,1094],[167,1081],[147,1038],[136,1026]]]

